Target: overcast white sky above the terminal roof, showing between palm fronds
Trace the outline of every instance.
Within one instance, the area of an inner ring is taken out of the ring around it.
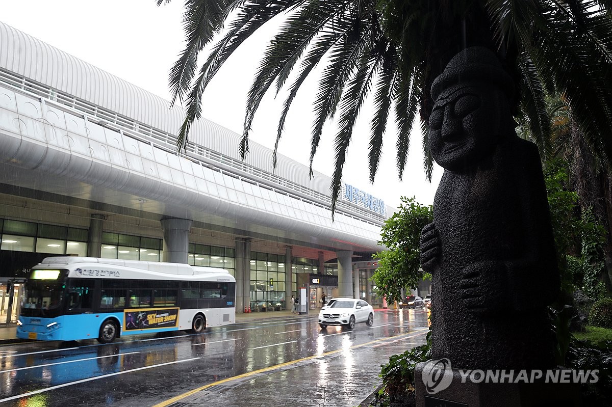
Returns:
[[[183,48],[182,6],[181,0],[162,7],[157,7],[155,0],[6,0],[2,1],[0,21],[170,100],[168,71]],[[270,27],[252,37],[223,65],[204,93],[203,117],[242,134],[246,95],[266,39],[274,32]],[[316,87],[313,78],[298,92],[278,148],[304,164],[310,154],[310,106]],[[252,141],[274,148],[283,102],[284,98],[274,98],[273,92],[266,95],[253,122]],[[400,196],[416,196],[420,204],[433,204],[442,171],[436,166],[432,182],[425,180],[418,128],[412,132],[403,182],[398,180],[395,167],[397,136],[392,122],[387,125],[375,183],[369,182],[370,118],[364,108],[348,150],[343,182],[393,207],[399,204]],[[333,124],[328,125],[313,164],[315,170],[330,176],[334,171],[334,137]]]

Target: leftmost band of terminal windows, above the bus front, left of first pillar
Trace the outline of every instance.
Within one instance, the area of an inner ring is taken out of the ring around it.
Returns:
[[[0,249],[48,254],[87,255],[87,229],[0,219]]]

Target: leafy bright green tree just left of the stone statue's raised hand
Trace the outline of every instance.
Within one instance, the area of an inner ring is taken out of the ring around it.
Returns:
[[[378,268],[372,275],[378,295],[387,301],[399,301],[402,288],[416,288],[424,277],[419,270],[419,240],[423,227],[433,222],[431,205],[420,205],[414,197],[401,197],[400,208],[385,221],[379,244],[387,247],[378,252]]]

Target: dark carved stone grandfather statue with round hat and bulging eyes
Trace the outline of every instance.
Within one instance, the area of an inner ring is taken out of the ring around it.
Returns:
[[[487,48],[431,87],[429,147],[444,168],[421,235],[433,275],[432,358],[460,369],[554,367],[547,305],[559,272],[542,166],[515,133],[513,81]]]

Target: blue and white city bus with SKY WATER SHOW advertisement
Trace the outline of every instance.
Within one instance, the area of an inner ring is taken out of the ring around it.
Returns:
[[[177,263],[47,257],[25,285],[17,337],[116,337],[234,323],[236,279],[221,268]]]

